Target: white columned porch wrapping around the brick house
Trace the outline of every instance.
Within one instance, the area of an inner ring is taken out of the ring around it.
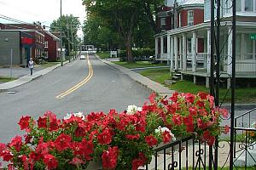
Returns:
[[[230,79],[232,71],[232,33],[231,23],[222,23],[220,30],[220,77]],[[256,78],[256,43],[250,39],[255,33],[255,23],[237,22],[236,29],[236,77]],[[172,71],[183,76],[206,77],[206,86],[210,77],[210,25],[177,28],[163,32],[155,37],[157,60],[167,60]],[[216,57],[216,54],[215,54]],[[216,59],[215,59],[216,60]],[[230,82],[230,80],[227,80]],[[227,84],[230,87],[230,83]]]

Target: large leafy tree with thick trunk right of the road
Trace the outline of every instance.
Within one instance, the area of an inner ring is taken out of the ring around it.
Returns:
[[[148,22],[156,31],[154,14],[162,2],[163,0],[84,0],[84,5],[89,17],[102,18],[108,22],[108,26],[114,26],[124,38],[127,59],[131,62],[131,48],[138,21],[143,17],[148,18]]]

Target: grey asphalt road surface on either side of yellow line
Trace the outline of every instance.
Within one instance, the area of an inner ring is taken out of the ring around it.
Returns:
[[[53,111],[58,118],[83,111],[124,111],[127,105],[143,105],[149,91],[131,78],[90,55],[93,75],[90,81],[63,99],[55,97],[83,81],[89,74],[87,59],[75,60],[10,91],[0,93],[0,142],[22,134],[17,124],[21,116],[38,118]]]

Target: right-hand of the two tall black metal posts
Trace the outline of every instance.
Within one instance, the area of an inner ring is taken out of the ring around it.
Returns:
[[[236,0],[233,0],[232,19],[232,83],[231,83],[231,122],[230,122],[230,170],[233,170],[234,156],[234,122],[236,90]]]

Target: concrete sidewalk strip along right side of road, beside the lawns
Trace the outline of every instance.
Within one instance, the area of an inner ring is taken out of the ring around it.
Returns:
[[[150,92],[160,94],[161,96],[172,96],[172,94],[175,92],[174,90],[170,90],[169,88],[166,88],[159,82],[154,82],[150,80],[148,77],[143,77],[141,74],[131,71],[130,69],[127,69],[121,65],[116,65],[110,61],[107,61],[106,59],[100,59],[99,56],[97,55],[96,55],[96,58],[101,60],[106,65],[109,65],[114,69],[120,71],[122,74],[127,75],[135,82],[138,82],[139,84],[143,85],[143,87],[147,88]]]

